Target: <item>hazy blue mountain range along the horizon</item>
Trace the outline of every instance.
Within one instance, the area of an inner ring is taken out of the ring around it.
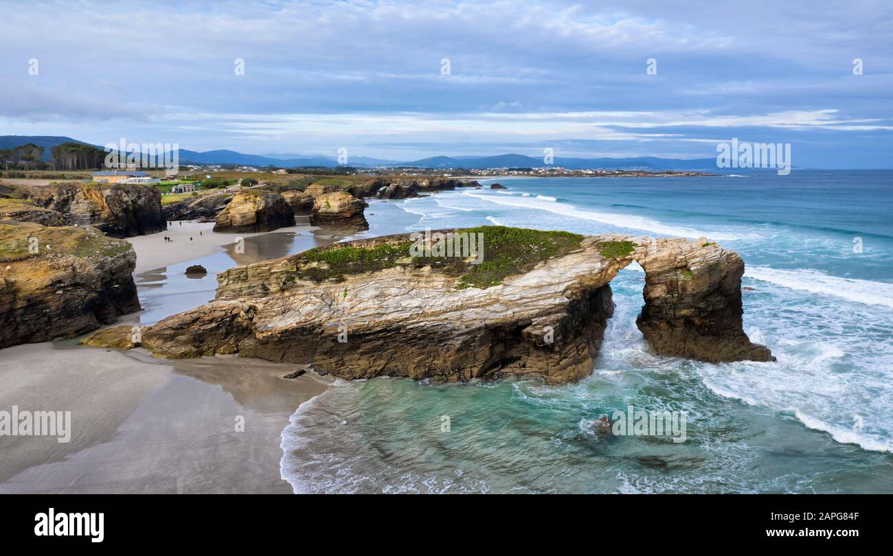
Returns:
[[[46,149],[44,160],[50,160],[50,149],[55,145],[68,142],[84,143],[71,137],[54,136],[0,136],[0,148],[11,148],[33,143]],[[101,148],[101,147],[100,147]],[[570,170],[716,170],[715,158],[697,158],[691,160],[675,158],[657,158],[655,156],[637,156],[631,158],[563,158],[555,157],[555,166]],[[244,154],[230,150],[188,151],[179,149],[180,164],[238,164],[240,166],[278,166],[281,168],[297,168],[301,166],[320,166],[333,168],[338,160],[329,156],[309,156],[301,154]],[[447,169],[468,168],[482,170],[485,168],[542,168],[546,166],[542,158],[524,154],[498,154],[496,156],[432,156],[417,161],[396,161],[368,156],[352,156],[348,165],[358,168],[374,168],[379,166],[406,166],[414,168]]]

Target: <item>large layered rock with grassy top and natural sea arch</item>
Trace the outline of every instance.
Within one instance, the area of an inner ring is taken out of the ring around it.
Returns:
[[[743,263],[718,245],[472,232],[483,234],[489,265],[413,252],[417,238],[402,235],[227,270],[211,303],[147,328],[143,346],[160,357],[238,353],[313,363],[341,378],[569,382],[591,374],[613,312],[609,282],[636,260],[647,272],[639,327],[655,352],[772,360],[741,329]]]

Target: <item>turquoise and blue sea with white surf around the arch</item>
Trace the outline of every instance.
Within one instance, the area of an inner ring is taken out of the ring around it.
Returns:
[[[612,282],[591,377],[339,382],[283,431],[297,492],[893,492],[893,172],[498,181],[510,189],[372,202],[370,234],[495,223],[704,236],[746,261],[745,329],[779,361],[647,353],[633,265]],[[629,405],[686,411],[686,442],[594,434]]]

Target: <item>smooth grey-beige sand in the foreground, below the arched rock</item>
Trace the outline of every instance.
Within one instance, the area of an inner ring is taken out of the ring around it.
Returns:
[[[0,408],[71,411],[71,441],[4,437],[0,493],[291,493],[280,433],[325,378],[284,379],[294,365],[230,356],[163,361],[61,344],[4,350]]]

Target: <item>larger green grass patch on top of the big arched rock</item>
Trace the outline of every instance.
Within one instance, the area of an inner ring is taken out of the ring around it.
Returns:
[[[502,284],[509,276],[531,270],[541,261],[571,252],[580,247],[583,238],[570,232],[505,226],[480,226],[450,231],[456,234],[469,234],[474,245],[477,245],[477,234],[482,234],[483,261],[480,264],[472,264],[470,260],[473,260],[473,257],[433,255],[412,257],[407,261],[413,242],[405,240],[368,248],[348,245],[311,249],[300,255],[301,258],[306,262],[321,264],[304,265],[297,271],[297,276],[319,282],[326,279],[343,280],[346,274],[384,270],[398,264],[416,268],[430,266],[450,276],[458,277],[457,287],[460,289],[465,287],[486,289]]]

